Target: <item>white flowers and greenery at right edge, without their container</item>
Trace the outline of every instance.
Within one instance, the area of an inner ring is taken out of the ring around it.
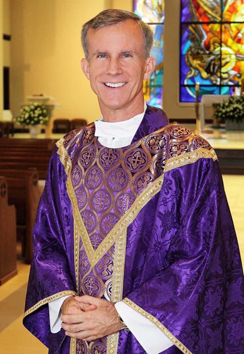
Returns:
[[[215,108],[214,116],[217,121],[236,121],[244,120],[244,96],[230,96],[228,101],[213,104]]]

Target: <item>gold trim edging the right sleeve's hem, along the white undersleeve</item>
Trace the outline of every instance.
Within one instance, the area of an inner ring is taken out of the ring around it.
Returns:
[[[133,310],[137,311],[140,313],[142,316],[145,318],[149,319],[151,322],[154,323],[158,327],[158,329],[163,332],[163,334],[171,340],[171,342],[182,351],[182,353],[185,354],[192,354],[192,352],[184,345],[182,344],[167,328],[153,315],[150,315],[148,312],[143,310],[140,306],[136,305],[133,301],[129,300],[128,298],[125,298],[123,300],[127,305],[129,305]]]

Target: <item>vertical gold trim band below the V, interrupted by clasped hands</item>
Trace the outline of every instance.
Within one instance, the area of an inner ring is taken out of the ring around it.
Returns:
[[[116,303],[123,299],[123,285],[125,273],[125,259],[126,259],[126,241],[127,229],[125,228],[123,234],[119,235],[115,242],[115,250],[113,257],[113,277],[112,277],[112,294],[111,301]],[[116,354],[118,350],[119,333],[114,333],[108,336],[107,339],[107,354]]]

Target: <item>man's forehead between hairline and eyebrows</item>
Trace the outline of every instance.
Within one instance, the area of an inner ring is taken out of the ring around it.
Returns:
[[[144,45],[144,38],[140,25],[134,20],[126,20],[116,24],[100,27],[98,30],[89,28],[88,49],[98,50],[101,46],[106,45],[109,48],[130,47],[132,49],[141,50]]]

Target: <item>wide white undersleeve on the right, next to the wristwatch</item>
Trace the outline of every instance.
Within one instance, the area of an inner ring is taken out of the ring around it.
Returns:
[[[116,303],[115,308],[147,354],[161,353],[173,345],[153,322],[123,301]]]

